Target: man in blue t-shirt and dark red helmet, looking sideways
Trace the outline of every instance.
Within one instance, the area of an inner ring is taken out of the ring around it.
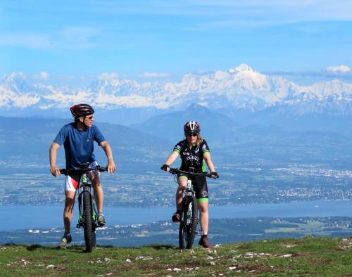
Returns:
[[[78,104],[70,108],[75,117],[75,122],[66,124],[58,132],[56,139],[50,146],[50,172],[54,176],[60,175],[60,170],[56,166],[56,153],[58,148],[63,144],[65,148],[66,168],[77,169],[81,165],[89,163],[94,167],[97,165],[94,157],[94,141],[103,148],[108,157],[108,173],[115,172],[115,162],[113,161],[113,153],[108,142],[104,139],[98,127],[93,125],[94,109],[88,104]],[[99,172],[89,174],[92,181],[96,205],[98,207],[98,224],[103,226],[106,224],[103,216],[103,189]],[[63,224],[65,233],[59,247],[65,248],[72,241],[70,235],[70,224],[73,217],[73,206],[75,205],[75,193],[78,188],[80,176],[66,176],[65,179],[65,209],[63,210]]]

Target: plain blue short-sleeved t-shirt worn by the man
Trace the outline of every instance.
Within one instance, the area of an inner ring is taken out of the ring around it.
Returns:
[[[98,127],[92,127],[80,131],[75,122],[66,124],[58,132],[55,143],[65,147],[66,168],[77,169],[86,162],[94,162],[94,141],[99,145],[105,141]]]

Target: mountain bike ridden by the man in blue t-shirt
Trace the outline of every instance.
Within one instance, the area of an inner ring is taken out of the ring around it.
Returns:
[[[83,165],[80,169],[60,169],[60,173],[64,175],[80,175],[80,183],[77,188],[78,198],[78,224],[77,228],[83,227],[84,229],[84,242],[86,252],[92,252],[93,247],[96,245],[96,227],[101,227],[98,224],[98,210],[94,200],[94,190],[92,183],[87,176],[88,172],[106,172],[107,167],[89,168],[89,164]]]

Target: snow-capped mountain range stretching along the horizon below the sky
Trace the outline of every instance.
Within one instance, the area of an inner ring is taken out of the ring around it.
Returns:
[[[21,74],[0,82],[0,111],[66,109],[75,103],[98,108],[180,110],[191,103],[208,108],[251,110],[289,109],[298,114],[352,113],[352,84],[333,80],[299,86],[283,77],[263,75],[248,65],[208,74],[187,74],[180,82],[139,83],[130,79],[97,79],[88,88],[26,84]]]

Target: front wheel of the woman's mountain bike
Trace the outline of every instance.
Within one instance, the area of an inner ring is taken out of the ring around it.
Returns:
[[[197,225],[197,204],[194,196],[186,196],[182,201],[180,217],[179,246],[180,249],[191,249]]]

